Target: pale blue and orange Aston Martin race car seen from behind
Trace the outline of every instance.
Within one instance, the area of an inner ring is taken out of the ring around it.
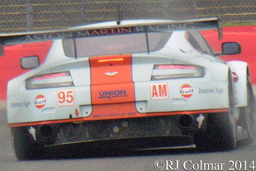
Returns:
[[[217,18],[1,34],[2,46],[53,40],[43,64],[24,56],[21,67],[33,69],[8,83],[17,159],[40,159],[48,147],[78,143],[88,153],[231,150],[242,138],[254,140],[248,64],[218,58],[241,53],[241,46],[227,42],[214,52],[199,33],[211,29],[221,38]]]

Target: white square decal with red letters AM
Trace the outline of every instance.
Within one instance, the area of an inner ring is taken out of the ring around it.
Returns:
[[[151,83],[150,94],[152,100],[164,100],[169,98],[167,83]]]

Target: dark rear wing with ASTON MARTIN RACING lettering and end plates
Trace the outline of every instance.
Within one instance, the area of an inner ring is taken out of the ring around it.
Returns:
[[[157,21],[141,24],[120,24],[110,26],[81,26],[60,30],[32,31],[22,33],[0,34],[0,56],[3,56],[3,46],[11,44],[35,43],[54,39],[80,38],[105,35],[135,34],[147,32],[172,32],[182,30],[218,30],[222,39],[222,30],[218,18],[206,18],[181,21]]]

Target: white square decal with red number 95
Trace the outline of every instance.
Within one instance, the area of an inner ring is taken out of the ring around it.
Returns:
[[[58,90],[57,99],[58,99],[58,106],[75,105],[74,89]]]

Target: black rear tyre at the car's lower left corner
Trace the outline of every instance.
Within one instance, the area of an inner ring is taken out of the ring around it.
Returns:
[[[27,127],[12,128],[13,148],[18,160],[43,159],[45,148],[35,141]]]

